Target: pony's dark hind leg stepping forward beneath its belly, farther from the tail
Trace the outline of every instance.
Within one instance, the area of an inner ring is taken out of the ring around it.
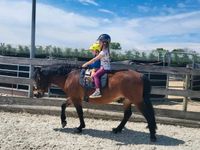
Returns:
[[[127,121],[129,120],[129,118],[132,115],[132,110],[131,110],[131,104],[128,104],[124,107],[124,117],[121,121],[121,123],[117,126],[117,128],[113,128],[113,132],[114,133],[119,133],[122,131],[122,129],[124,128],[125,124],[127,123]]]

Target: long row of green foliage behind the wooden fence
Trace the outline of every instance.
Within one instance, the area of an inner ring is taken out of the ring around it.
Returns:
[[[167,62],[170,58],[171,64],[175,66],[183,66],[185,64],[191,64],[193,62],[200,62],[200,56],[195,51],[188,49],[174,49],[169,52],[163,48],[157,48],[150,52],[138,51],[135,49],[121,51],[120,43],[111,43],[111,59],[112,61],[120,60],[154,60]],[[17,57],[29,57],[29,46],[16,46],[13,47],[10,44],[0,43],[0,55],[3,56],[17,56]],[[170,57],[169,57],[170,56]],[[85,49],[72,49],[72,48],[60,48],[56,46],[37,46],[35,50],[35,57],[37,58],[87,58],[90,59],[93,54]]]

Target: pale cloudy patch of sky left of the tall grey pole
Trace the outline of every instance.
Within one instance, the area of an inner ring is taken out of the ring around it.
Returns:
[[[0,42],[30,42],[30,16],[30,3],[0,1]]]

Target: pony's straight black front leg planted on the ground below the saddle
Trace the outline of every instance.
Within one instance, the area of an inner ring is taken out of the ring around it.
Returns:
[[[84,118],[83,118],[83,108],[82,108],[81,104],[74,104],[74,106],[76,108],[76,111],[78,113],[78,117],[79,117],[79,120],[80,120],[80,126],[76,128],[77,129],[76,132],[81,133],[82,129],[85,128],[85,121],[84,121]]]

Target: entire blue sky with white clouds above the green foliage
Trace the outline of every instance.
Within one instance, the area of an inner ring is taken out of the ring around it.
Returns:
[[[88,48],[108,33],[124,50],[200,52],[200,0],[37,0],[36,45]],[[0,0],[0,43],[30,45],[31,0]]]

